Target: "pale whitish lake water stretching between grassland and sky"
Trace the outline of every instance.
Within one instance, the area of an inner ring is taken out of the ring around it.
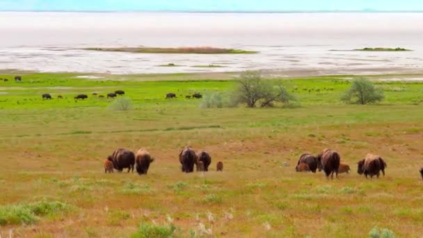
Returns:
[[[112,74],[423,71],[422,13],[0,13],[0,70]],[[81,47],[230,47],[248,55],[131,54]],[[407,52],[330,51],[404,47]],[[175,63],[177,68],[157,65]],[[194,65],[225,68],[193,68]]]

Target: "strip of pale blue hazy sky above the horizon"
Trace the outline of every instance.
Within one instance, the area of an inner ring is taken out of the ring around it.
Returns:
[[[0,0],[0,10],[423,10],[423,0]]]

